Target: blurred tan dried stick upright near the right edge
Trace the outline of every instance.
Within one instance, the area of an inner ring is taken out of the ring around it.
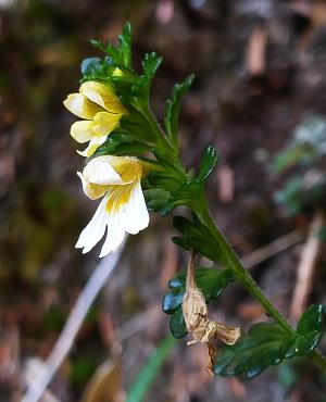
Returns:
[[[308,297],[311,291],[314,268],[322,248],[317,233],[324,225],[324,215],[317,211],[310,225],[305,244],[301,252],[301,261],[298,265],[297,282],[290,306],[290,318],[297,321],[303,313]]]

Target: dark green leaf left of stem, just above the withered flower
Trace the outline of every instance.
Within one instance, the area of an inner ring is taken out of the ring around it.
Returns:
[[[172,241],[186,250],[193,250],[211,261],[223,264],[225,262],[224,253],[218,248],[216,239],[196,216],[192,218],[193,221],[184,216],[174,217],[173,225],[183,236],[173,237]]]

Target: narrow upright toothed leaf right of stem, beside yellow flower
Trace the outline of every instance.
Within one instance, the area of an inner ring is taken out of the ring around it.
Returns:
[[[191,84],[193,83],[193,79],[195,75],[191,74],[181,84],[176,84],[173,89],[171,99],[166,101],[164,124],[166,133],[174,141],[176,141],[177,139],[181,100],[185,93],[189,90]]]

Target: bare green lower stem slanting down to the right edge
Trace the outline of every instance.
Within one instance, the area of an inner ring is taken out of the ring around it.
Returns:
[[[223,249],[224,255],[226,256],[227,265],[234,271],[239,282],[249,291],[250,294],[256,299],[260,304],[265,309],[266,314],[274,318],[274,321],[289,335],[294,334],[294,329],[291,327],[290,323],[286,317],[271,303],[266,296],[262,292],[258,284],[254,281],[252,276],[249,274],[248,269],[244,268],[238,255],[235,253],[231,246],[225,239],[223,234],[220,231],[215,225],[213,218],[211,217],[208,210],[197,212],[200,221],[211,230],[212,235],[218,242],[220,247]],[[326,370],[326,359],[318,352],[313,351],[308,356],[311,359],[318,367]]]

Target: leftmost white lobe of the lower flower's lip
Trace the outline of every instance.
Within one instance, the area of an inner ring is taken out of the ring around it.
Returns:
[[[83,249],[83,254],[89,252],[104,236],[109,217],[106,212],[106,202],[108,197],[104,197],[93,214],[93,217],[82,231],[76,242],[76,249]]]

